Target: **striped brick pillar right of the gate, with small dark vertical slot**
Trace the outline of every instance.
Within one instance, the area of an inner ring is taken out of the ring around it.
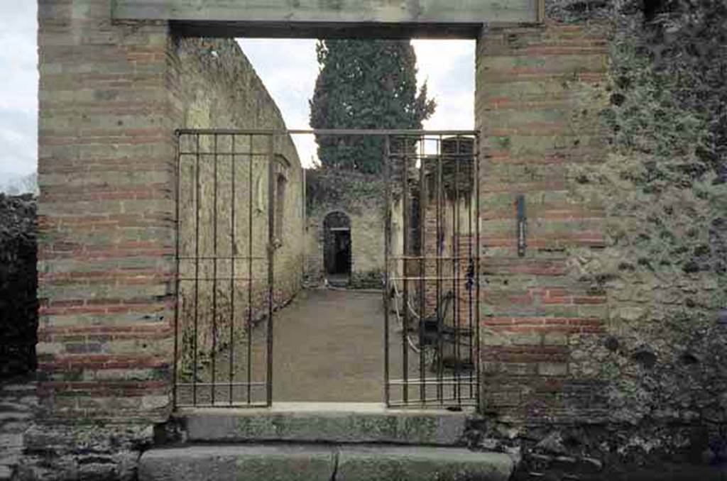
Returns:
[[[574,169],[605,155],[598,112],[607,52],[594,25],[496,29],[478,41],[483,409],[500,416],[552,421],[598,406],[598,387],[569,373],[569,340],[603,332],[606,293],[573,269],[579,249],[603,247],[603,212],[570,187]]]

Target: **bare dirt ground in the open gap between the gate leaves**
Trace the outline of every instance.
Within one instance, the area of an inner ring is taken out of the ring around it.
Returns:
[[[381,403],[382,295],[303,291],[274,324],[276,401]]]

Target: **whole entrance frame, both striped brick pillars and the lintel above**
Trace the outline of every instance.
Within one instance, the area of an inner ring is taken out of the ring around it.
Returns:
[[[537,8],[524,1],[509,17],[493,13],[495,2],[480,2],[474,12],[456,2],[448,9],[435,8],[443,2],[414,3],[416,15],[403,8],[412,2],[402,1],[398,10],[342,17],[348,12],[342,7],[318,19],[300,17],[300,24],[293,16],[288,33],[341,36],[342,28],[362,34],[368,27],[370,36],[478,36],[481,275],[488,286],[481,299],[483,409],[510,416],[564,412],[571,405],[563,392],[592,388],[569,375],[569,339],[598,336],[606,316],[606,294],[571,275],[565,250],[602,245],[598,206],[571,198],[568,166],[600,158],[595,114],[603,101],[606,33],[534,25]],[[145,15],[134,10],[142,4],[151,6]],[[174,34],[194,25],[217,36],[253,25],[286,33],[270,12],[248,23],[236,17],[242,8],[202,9],[207,16],[194,17],[184,2],[171,10],[164,4],[39,1],[38,352],[47,416],[168,416],[174,130],[182,123]],[[521,193],[530,222],[523,258],[515,253],[512,207]]]

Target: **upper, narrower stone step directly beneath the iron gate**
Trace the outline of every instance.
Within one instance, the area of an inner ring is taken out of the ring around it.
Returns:
[[[332,442],[462,445],[470,413],[393,411],[379,405],[278,405],[180,411],[189,442]]]

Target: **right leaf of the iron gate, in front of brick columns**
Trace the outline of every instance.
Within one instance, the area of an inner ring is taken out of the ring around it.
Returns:
[[[387,133],[385,157],[386,403],[478,405],[478,135]]]

